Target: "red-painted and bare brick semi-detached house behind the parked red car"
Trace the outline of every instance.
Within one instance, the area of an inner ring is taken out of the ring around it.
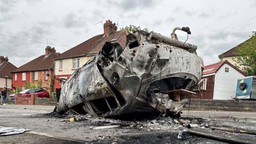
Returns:
[[[48,92],[53,92],[54,84],[54,57],[60,53],[56,53],[54,47],[47,46],[45,54],[29,61],[25,65],[12,71],[12,86],[15,89],[20,87],[25,90],[25,83],[38,84],[42,83],[42,87]]]

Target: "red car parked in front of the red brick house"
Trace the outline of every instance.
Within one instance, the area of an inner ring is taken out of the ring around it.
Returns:
[[[50,94],[44,89],[27,89],[19,93],[24,97],[30,97],[31,94],[37,94],[38,98],[51,98]]]

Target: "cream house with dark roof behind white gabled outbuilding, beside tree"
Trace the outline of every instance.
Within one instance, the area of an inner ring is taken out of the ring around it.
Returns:
[[[250,39],[250,38],[249,38]],[[232,49],[222,53],[219,55],[219,59],[220,61],[225,61],[228,60],[232,65],[236,65],[236,62],[234,61],[234,58],[237,55],[237,49],[239,49],[239,47],[241,47],[245,42],[249,41],[249,39],[247,39],[246,41],[244,41],[241,44],[238,44],[237,46],[233,47]]]

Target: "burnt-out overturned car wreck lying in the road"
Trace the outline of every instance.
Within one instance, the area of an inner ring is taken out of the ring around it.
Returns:
[[[55,111],[71,109],[89,118],[131,113],[179,115],[189,90],[200,81],[203,60],[196,45],[138,31],[127,35],[125,47],[107,42],[62,85]]]

